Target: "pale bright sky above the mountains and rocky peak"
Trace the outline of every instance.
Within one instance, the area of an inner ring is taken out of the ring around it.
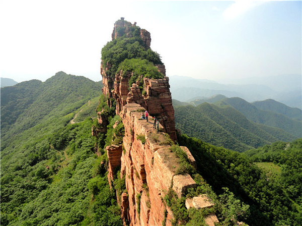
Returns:
[[[0,76],[100,81],[101,49],[121,17],[150,32],[168,76],[301,74],[301,1],[0,0]]]

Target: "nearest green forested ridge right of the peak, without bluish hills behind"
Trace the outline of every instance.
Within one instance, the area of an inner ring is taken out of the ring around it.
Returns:
[[[189,136],[239,152],[298,138],[281,129],[253,123],[230,105],[219,107],[206,102],[196,107],[175,107],[175,126]]]

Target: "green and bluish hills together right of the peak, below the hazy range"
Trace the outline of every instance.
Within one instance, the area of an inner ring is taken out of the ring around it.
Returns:
[[[249,103],[223,95],[173,100],[175,125],[182,133],[215,146],[245,151],[302,136],[302,111],[275,100]]]

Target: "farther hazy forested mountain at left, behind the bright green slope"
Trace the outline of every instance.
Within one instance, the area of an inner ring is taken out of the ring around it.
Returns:
[[[74,110],[100,92],[99,83],[64,72],[56,73],[43,83],[31,80],[2,88],[2,146],[35,125],[69,114],[72,117]]]

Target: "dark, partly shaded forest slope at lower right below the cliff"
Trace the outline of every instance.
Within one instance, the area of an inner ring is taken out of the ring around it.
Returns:
[[[186,135],[178,136],[178,142],[189,148],[198,163],[197,173],[202,175],[216,195],[223,198],[224,196],[220,195],[226,190],[221,188],[225,187],[243,203],[238,204],[238,201],[235,201],[232,204],[239,208],[235,211],[239,214],[239,221],[242,219],[241,210],[245,210],[245,205],[249,205],[250,214],[245,215],[247,217],[245,222],[249,225],[301,225],[301,195],[299,191],[301,191],[302,148],[300,139],[292,142],[292,150],[290,151],[288,148],[288,153],[284,154],[284,161],[288,161],[288,165],[284,167],[284,173],[282,170],[283,183],[279,183],[274,178],[267,180],[266,172],[252,164],[241,153],[215,147]],[[252,156],[252,152],[249,155]],[[290,156],[295,156],[295,159]],[[259,162],[259,158],[257,161]],[[292,165],[289,164],[291,161],[293,162]],[[212,198],[212,196],[210,197]],[[232,196],[230,198],[233,199]],[[220,200],[220,202],[222,201]],[[224,206],[229,205],[228,202],[222,203]],[[233,208],[227,209],[231,211],[230,214],[232,215]],[[221,214],[222,212],[223,210],[220,211]],[[221,216],[219,217],[221,218]],[[227,219],[226,217],[222,218]]]

